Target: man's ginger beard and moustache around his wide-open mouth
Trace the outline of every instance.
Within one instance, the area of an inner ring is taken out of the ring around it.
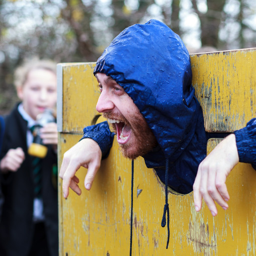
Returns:
[[[122,114],[104,112],[102,115],[108,120],[117,135],[119,149],[125,158],[136,159],[157,146],[156,137],[139,109],[138,112],[129,114],[130,121]],[[127,134],[129,135],[126,137]]]

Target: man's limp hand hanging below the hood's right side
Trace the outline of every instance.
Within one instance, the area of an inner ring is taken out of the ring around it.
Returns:
[[[235,135],[231,134],[219,143],[198,167],[193,185],[196,211],[202,207],[202,197],[212,216],[217,215],[215,201],[224,210],[228,208],[226,177],[238,162]]]

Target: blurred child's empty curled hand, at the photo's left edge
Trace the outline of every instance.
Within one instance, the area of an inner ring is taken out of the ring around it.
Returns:
[[[3,173],[8,171],[16,172],[25,160],[25,153],[22,148],[10,149],[0,162],[0,168]]]

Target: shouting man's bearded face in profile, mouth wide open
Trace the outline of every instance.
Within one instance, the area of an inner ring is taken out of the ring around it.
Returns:
[[[112,126],[123,156],[135,159],[150,152],[157,140],[132,98],[110,76],[97,73],[96,78],[101,92],[96,109]]]

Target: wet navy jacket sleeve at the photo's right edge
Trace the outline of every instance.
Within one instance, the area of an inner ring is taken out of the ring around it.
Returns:
[[[256,118],[247,122],[246,126],[234,132],[239,162],[256,165]]]

